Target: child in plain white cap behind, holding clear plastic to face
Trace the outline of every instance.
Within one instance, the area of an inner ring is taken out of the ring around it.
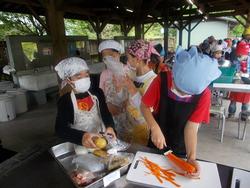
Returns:
[[[114,40],[105,40],[100,43],[101,53],[106,69],[101,73],[99,87],[103,90],[108,109],[111,112],[118,138],[129,142],[131,134],[126,134],[131,123],[127,118],[128,92],[118,83],[125,75],[126,67],[120,62],[122,46]]]

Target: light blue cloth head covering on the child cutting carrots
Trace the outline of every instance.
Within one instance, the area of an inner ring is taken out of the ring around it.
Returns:
[[[174,83],[178,89],[190,94],[198,95],[221,75],[216,60],[207,55],[199,54],[192,46],[189,51],[178,47],[173,65]]]

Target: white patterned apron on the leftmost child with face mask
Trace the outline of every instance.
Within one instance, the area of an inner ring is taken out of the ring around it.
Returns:
[[[78,109],[75,94],[73,91],[71,92],[71,100],[74,107],[74,124],[71,125],[71,127],[91,133],[105,132],[105,126],[101,119],[99,101],[96,96],[91,95],[91,93],[89,93],[89,95],[91,96],[94,105],[90,111],[84,111]]]

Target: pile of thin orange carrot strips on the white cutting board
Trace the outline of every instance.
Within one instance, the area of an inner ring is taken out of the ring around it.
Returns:
[[[150,161],[146,157],[141,159],[145,167],[150,170],[150,173],[154,175],[160,183],[163,183],[162,179],[164,179],[169,181],[176,187],[180,187],[180,185],[175,182],[174,177],[176,176],[176,174],[172,171],[172,169],[163,169],[158,164]]]

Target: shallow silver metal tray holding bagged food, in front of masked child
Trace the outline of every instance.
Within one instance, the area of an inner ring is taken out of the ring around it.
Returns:
[[[55,158],[55,160],[58,162],[58,164],[62,167],[62,169],[64,170],[64,172],[70,177],[70,173],[75,169],[75,164],[72,163],[72,160],[74,159],[74,157],[76,157],[76,153],[75,153],[75,149],[74,149],[74,144],[70,143],[70,142],[65,142],[56,146],[53,146],[50,149],[50,152],[52,154],[52,156]],[[133,154],[131,154],[133,155]],[[129,164],[118,168],[114,171],[119,171],[120,172],[120,176],[123,176],[127,173],[128,168],[130,166],[132,161],[130,161]],[[112,171],[112,172],[114,172]],[[110,173],[109,173],[110,174]],[[97,179],[96,181],[90,183],[87,186],[84,186],[86,188],[99,188],[99,187],[104,187],[104,182],[103,179],[108,176],[109,174],[103,176],[100,179]],[[75,184],[75,182],[71,179],[71,181],[74,183],[74,185],[77,188],[82,188],[82,186],[78,186],[77,184]]]

